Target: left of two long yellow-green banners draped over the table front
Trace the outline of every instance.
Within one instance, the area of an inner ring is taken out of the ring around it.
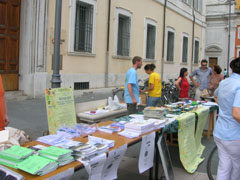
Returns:
[[[195,114],[184,113],[177,120],[180,160],[187,172],[194,173],[203,161],[195,141]]]

